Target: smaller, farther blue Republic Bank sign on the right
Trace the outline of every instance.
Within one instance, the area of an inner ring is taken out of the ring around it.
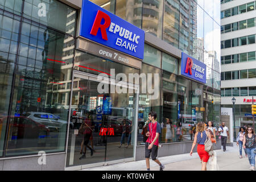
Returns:
[[[206,84],[207,67],[204,63],[182,52],[181,75]]]

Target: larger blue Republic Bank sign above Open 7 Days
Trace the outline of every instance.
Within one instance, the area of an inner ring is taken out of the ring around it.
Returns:
[[[145,32],[88,0],[82,2],[80,36],[143,59]]]

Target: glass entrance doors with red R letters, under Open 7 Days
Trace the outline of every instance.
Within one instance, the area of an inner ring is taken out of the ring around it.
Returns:
[[[130,85],[133,93],[100,93],[96,76],[81,75],[73,78],[66,167],[133,160],[138,88]],[[104,86],[110,90],[110,82]]]

